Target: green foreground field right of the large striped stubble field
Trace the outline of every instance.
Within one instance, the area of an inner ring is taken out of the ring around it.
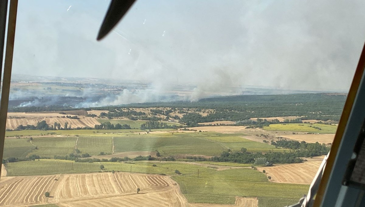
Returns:
[[[172,177],[192,203],[234,204],[230,196],[299,200],[309,188],[309,185],[268,182],[263,173],[250,169],[208,172],[199,176]],[[212,195],[215,195],[214,199],[211,199]]]

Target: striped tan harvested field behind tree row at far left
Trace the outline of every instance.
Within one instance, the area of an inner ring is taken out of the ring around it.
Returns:
[[[58,114],[59,115],[59,114]],[[46,116],[45,116],[46,117]],[[77,127],[95,127],[95,124],[100,124],[97,119],[91,118],[91,117],[80,117],[80,119],[69,119],[69,118],[24,118],[24,119],[7,119],[6,121],[6,128],[7,129],[16,129],[19,125],[27,126],[34,125],[36,126],[38,122],[41,122],[42,120],[45,120],[46,123],[51,126],[55,122],[61,124],[61,127],[64,127],[65,122],[68,122],[69,126],[71,124],[71,128],[77,128]],[[48,116],[47,116],[48,117]]]

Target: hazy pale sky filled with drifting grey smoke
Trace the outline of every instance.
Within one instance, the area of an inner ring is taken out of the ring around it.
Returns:
[[[20,0],[13,72],[347,91],[365,40],[363,0],[137,0],[97,42],[109,3]]]

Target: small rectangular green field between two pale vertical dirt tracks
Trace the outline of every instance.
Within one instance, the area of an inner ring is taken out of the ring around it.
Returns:
[[[81,153],[99,155],[100,152],[112,154],[113,143],[111,137],[79,137],[77,149]]]

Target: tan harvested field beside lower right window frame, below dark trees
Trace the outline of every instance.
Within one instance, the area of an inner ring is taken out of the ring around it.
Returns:
[[[266,175],[271,176],[272,182],[311,184],[321,163],[321,160],[315,160],[273,167],[258,167],[257,170],[260,172],[265,170]]]

